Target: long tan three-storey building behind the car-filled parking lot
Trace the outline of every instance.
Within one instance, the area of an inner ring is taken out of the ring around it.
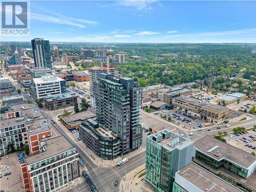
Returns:
[[[214,123],[221,123],[228,115],[228,108],[190,97],[173,98],[172,104],[178,110]]]

